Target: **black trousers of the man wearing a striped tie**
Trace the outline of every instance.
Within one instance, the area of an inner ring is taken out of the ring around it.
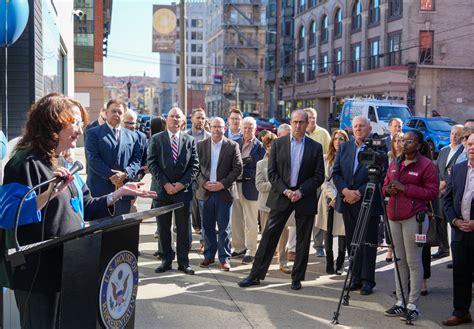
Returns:
[[[155,200],[157,207],[163,207],[174,202],[168,200]],[[189,266],[189,206],[190,201],[184,201],[184,206],[174,210],[174,220],[176,223],[176,253],[178,265]],[[171,225],[172,213],[160,215],[158,219],[158,235],[160,237],[160,257],[163,261],[172,261],[174,259],[174,251],[171,247]]]

